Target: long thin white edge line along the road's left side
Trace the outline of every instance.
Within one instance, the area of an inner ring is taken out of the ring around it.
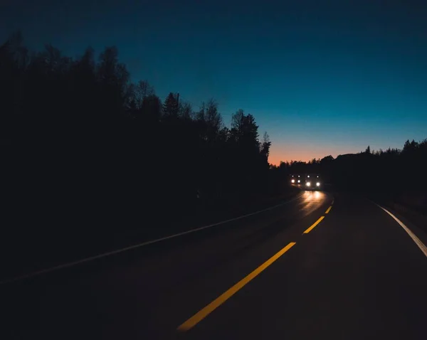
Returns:
[[[213,224],[210,224],[210,225],[204,225],[203,227],[200,227],[200,228],[183,231],[182,233],[177,233],[177,234],[165,236],[164,238],[157,238],[156,240],[149,240],[147,242],[139,243],[137,245],[131,245],[130,247],[113,250],[113,251],[111,251],[109,253],[102,253],[100,255],[86,257],[86,258],[84,258],[82,260],[77,260],[77,261],[74,261],[74,262],[64,263],[63,265],[57,265],[55,267],[50,267],[50,268],[46,268],[46,269],[43,269],[43,270],[38,270],[37,272],[30,272],[28,274],[21,275],[21,276],[18,276],[18,277],[12,277],[11,279],[6,279],[4,281],[0,281],[0,285],[4,285],[6,283],[16,282],[16,281],[19,281],[19,280],[28,279],[30,277],[35,277],[35,276],[38,276],[38,275],[46,274],[48,272],[53,272],[53,271],[56,271],[56,270],[60,270],[60,269],[72,267],[74,265],[80,265],[81,263],[84,263],[84,262],[89,262],[89,261],[97,260],[97,259],[99,259],[101,257],[115,255],[115,254],[118,254],[118,253],[125,252],[127,250],[131,250],[131,249],[143,247],[144,245],[151,245],[153,243],[158,243],[158,242],[161,242],[161,241],[164,241],[164,240],[169,240],[171,238],[177,238],[179,236],[186,235],[186,234],[189,234],[189,233],[194,233],[194,232],[199,231],[199,230],[204,230],[204,229],[207,229],[207,228],[215,227],[216,225],[221,225],[221,224],[225,224],[225,223],[228,223],[228,222],[238,221],[241,218],[246,218],[248,216],[253,216],[253,215],[256,215],[257,213],[263,213],[264,211],[269,211],[271,209],[277,208],[278,206],[283,206],[283,205],[285,205],[287,203],[295,201],[301,195],[302,194],[300,193],[297,196],[295,196],[294,198],[291,198],[289,201],[285,201],[285,202],[279,203],[279,204],[277,204],[275,206],[270,206],[269,208],[265,208],[265,209],[262,209],[262,210],[259,210],[259,211],[255,211],[254,213],[248,213],[246,215],[238,216],[238,217],[235,217],[235,218],[230,218],[230,219],[228,219],[226,221],[221,221],[221,222],[213,223]]]

